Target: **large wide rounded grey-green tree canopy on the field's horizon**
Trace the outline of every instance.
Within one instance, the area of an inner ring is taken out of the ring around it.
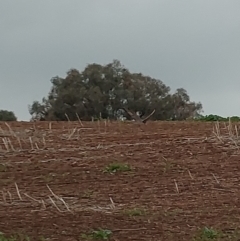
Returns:
[[[51,79],[52,87],[41,102],[29,106],[32,118],[39,120],[91,120],[129,117],[122,110],[148,114],[156,109],[155,120],[184,120],[198,116],[202,104],[190,101],[187,91],[170,87],[161,80],[131,73],[118,60],[107,65],[89,64],[80,72],[70,69],[65,78]]]

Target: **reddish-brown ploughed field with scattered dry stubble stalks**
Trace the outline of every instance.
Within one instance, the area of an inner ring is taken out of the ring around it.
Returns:
[[[239,240],[237,132],[231,123],[2,122],[0,232]]]

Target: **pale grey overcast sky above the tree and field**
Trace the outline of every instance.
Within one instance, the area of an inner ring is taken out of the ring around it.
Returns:
[[[239,0],[0,3],[0,109],[29,120],[56,75],[121,61],[185,88],[204,114],[240,115]]]

